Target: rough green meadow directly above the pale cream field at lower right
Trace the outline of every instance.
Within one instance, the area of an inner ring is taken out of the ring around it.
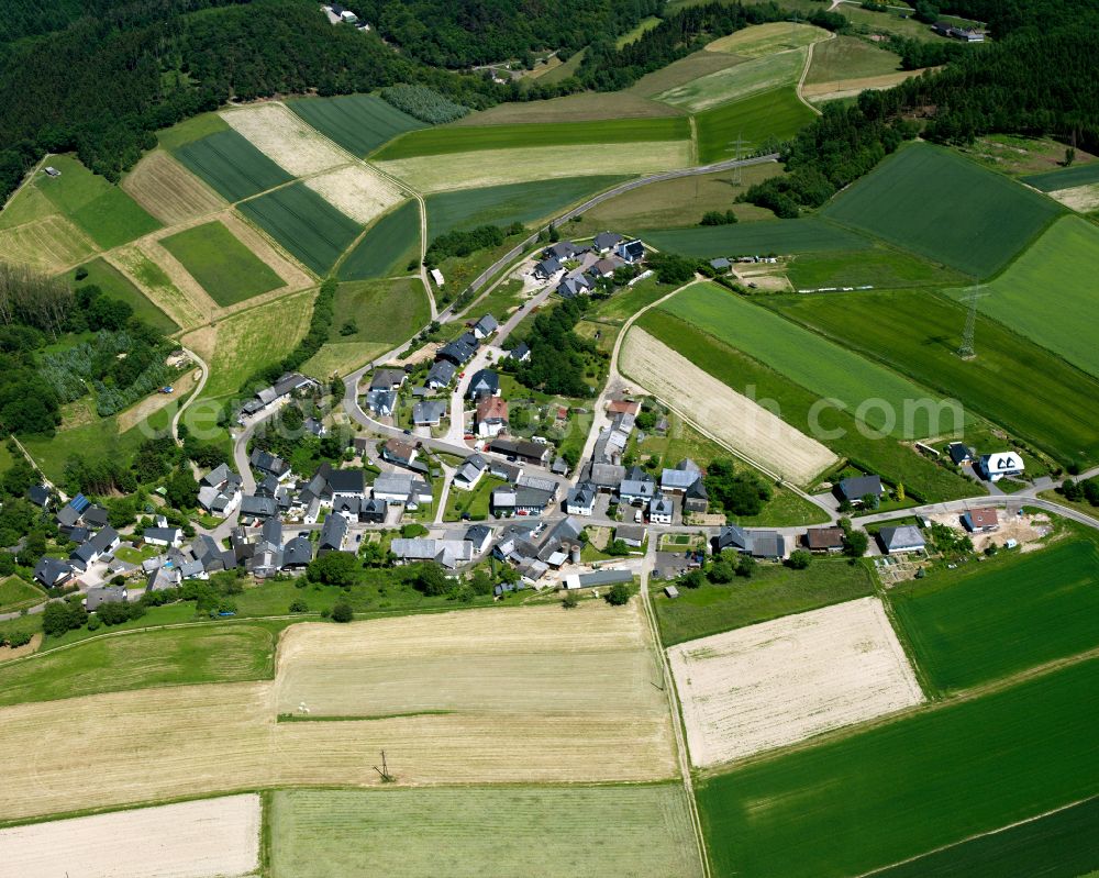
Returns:
[[[726,586],[679,588],[679,597],[653,599],[665,646],[803,613],[874,593],[869,570],[840,558],[814,558],[804,570],[761,564],[751,579]]]

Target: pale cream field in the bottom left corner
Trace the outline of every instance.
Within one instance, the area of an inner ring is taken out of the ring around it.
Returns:
[[[237,878],[259,868],[260,801],[226,796],[0,830],[4,875]]]

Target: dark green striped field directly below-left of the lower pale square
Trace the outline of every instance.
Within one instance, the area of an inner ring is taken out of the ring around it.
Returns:
[[[238,209],[322,277],[362,231],[358,223],[300,182],[244,201]]]

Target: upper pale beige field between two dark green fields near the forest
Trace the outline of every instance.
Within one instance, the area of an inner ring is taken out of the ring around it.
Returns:
[[[287,110],[260,103],[221,114],[259,152],[296,177],[348,163],[348,156]]]

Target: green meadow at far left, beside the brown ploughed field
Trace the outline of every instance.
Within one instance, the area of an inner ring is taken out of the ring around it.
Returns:
[[[57,210],[103,249],[111,249],[160,227],[160,223],[130,196],[92,174],[76,158],[53,156],[49,164],[62,176],[42,175],[36,178],[37,187]]]

